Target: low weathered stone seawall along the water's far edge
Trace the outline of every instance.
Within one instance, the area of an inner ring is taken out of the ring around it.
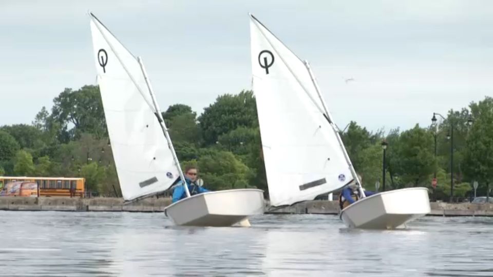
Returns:
[[[11,211],[128,211],[162,212],[171,204],[170,197],[147,198],[125,204],[121,198],[96,197],[89,199],[70,197],[0,197],[0,210]],[[435,216],[493,216],[493,204],[431,202]],[[338,214],[337,201],[307,201],[290,207],[267,210],[266,213],[318,213]]]

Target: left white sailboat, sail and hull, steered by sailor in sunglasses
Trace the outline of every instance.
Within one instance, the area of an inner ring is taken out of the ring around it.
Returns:
[[[97,80],[118,179],[127,202],[163,192],[183,172],[142,59],[89,13]],[[231,226],[263,213],[263,191],[236,189],[190,195],[169,205],[176,225]]]

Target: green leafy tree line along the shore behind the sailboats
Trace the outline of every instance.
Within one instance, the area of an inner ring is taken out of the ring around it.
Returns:
[[[432,114],[430,112],[430,114]],[[195,164],[212,190],[256,187],[267,181],[252,91],[223,94],[200,115],[183,104],[163,112],[182,167]],[[467,124],[472,118],[473,124]],[[450,140],[453,126],[453,197],[467,197],[474,181],[486,195],[493,180],[493,98],[450,110],[437,125],[405,131],[368,131],[351,122],[341,132],[365,187],[382,183],[382,141],[386,150],[386,189],[425,186],[432,197],[450,197]],[[435,144],[437,150],[435,155]],[[437,187],[431,186],[436,174]],[[0,175],[82,176],[87,188],[121,196],[98,86],[66,88],[43,107],[32,124],[0,127]],[[382,189],[382,188],[380,188]]]

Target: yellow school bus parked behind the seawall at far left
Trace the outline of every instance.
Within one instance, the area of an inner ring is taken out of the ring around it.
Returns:
[[[0,176],[0,189],[13,182],[33,182],[37,184],[37,196],[84,197],[85,179],[67,177],[26,177]]]

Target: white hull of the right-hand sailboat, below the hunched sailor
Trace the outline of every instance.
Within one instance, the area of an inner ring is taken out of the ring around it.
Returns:
[[[406,188],[374,194],[339,213],[349,228],[395,229],[429,213],[427,188]]]

